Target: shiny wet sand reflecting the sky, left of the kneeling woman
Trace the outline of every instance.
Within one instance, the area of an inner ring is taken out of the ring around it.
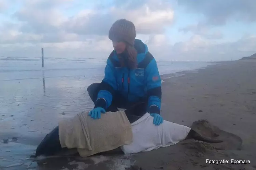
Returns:
[[[18,77],[19,80],[1,82],[0,169],[45,169],[45,158],[40,159],[42,167],[37,160],[30,158],[43,137],[57,125],[59,119],[72,117],[93,107],[86,88],[95,80],[63,74],[58,77],[42,69],[35,77]],[[62,167],[56,166],[52,169]]]

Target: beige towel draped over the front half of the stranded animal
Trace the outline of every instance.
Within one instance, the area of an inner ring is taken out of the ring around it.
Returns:
[[[116,149],[132,142],[131,124],[124,111],[106,112],[92,119],[89,112],[59,122],[62,148],[77,148],[80,156]]]

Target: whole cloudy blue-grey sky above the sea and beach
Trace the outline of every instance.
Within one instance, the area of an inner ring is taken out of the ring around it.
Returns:
[[[108,31],[132,21],[157,60],[256,53],[256,0],[0,0],[0,56],[107,58]]]

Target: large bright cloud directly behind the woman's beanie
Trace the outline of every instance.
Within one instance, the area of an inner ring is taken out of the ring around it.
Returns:
[[[130,2],[116,2],[115,6],[107,9],[107,13],[101,12],[101,8],[82,11],[67,20],[63,29],[77,34],[107,35],[115,20],[125,18],[134,23],[138,34],[156,34],[163,33],[165,26],[172,24],[173,10],[161,1],[152,0],[134,8],[131,8]]]

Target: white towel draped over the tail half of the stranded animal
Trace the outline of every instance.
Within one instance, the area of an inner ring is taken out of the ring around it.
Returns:
[[[125,154],[151,151],[162,147],[175,145],[184,140],[190,128],[164,120],[162,124],[153,124],[154,117],[146,113],[143,117],[133,122],[133,141],[121,147]]]

